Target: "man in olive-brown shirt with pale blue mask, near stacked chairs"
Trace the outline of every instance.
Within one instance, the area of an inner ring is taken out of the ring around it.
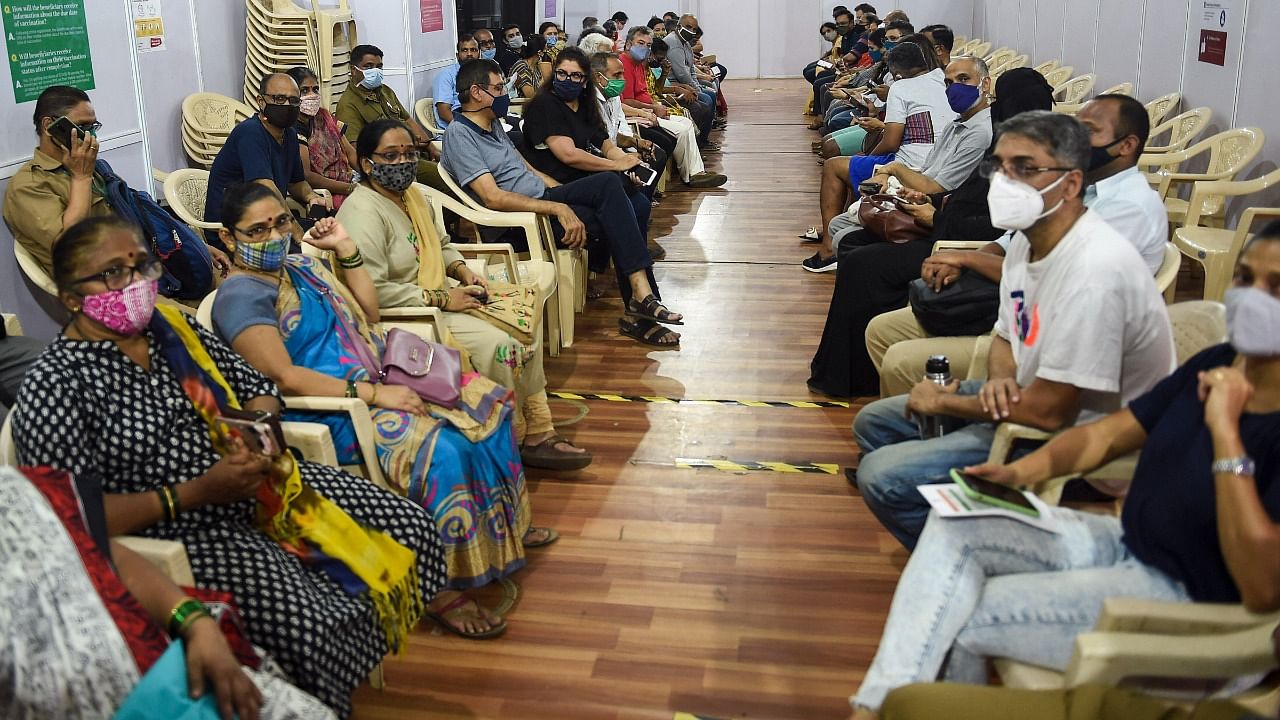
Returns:
[[[383,51],[379,47],[357,45],[351,50],[351,83],[338,99],[337,117],[346,123],[344,135],[352,145],[360,137],[360,131],[374,120],[390,118],[404,123],[413,133],[419,150],[425,155],[417,161],[417,182],[449,192],[435,167],[440,151],[431,145],[431,133],[404,110],[396,91],[383,83]]]

